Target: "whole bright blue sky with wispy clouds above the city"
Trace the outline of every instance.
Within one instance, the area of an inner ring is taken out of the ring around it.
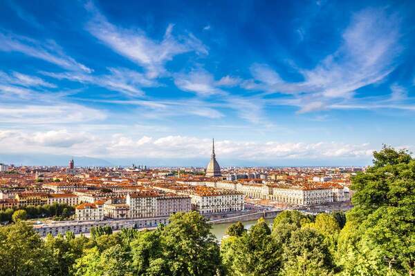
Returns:
[[[364,165],[382,144],[414,149],[414,8],[1,1],[0,161],[197,166],[212,137],[223,165]]]

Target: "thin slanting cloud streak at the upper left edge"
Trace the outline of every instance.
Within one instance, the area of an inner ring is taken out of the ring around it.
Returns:
[[[0,33],[0,50],[5,52],[21,52],[29,57],[42,59],[59,67],[73,71],[92,72],[92,70],[72,57],[68,57],[55,41],[37,41],[15,34]]]

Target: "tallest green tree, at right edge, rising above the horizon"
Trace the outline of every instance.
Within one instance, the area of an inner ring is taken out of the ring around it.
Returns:
[[[347,264],[354,262],[363,273],[375,267],[367,275],[414,275],[415,160],[406,150],[384,146],[374,152],[374,166],[352,178],[351,188],[354,208],[339,239],[345,270],[353,271]]]

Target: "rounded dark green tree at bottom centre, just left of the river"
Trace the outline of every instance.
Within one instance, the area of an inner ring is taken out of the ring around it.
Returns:
[[[160,237],[172,275],[215,275],[223,269],[219,246],[205,217],[193,211],[176,213],[169,221]]]

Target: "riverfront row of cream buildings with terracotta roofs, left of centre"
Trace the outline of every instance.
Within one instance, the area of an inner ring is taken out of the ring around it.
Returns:
[[[152,188],[136,190],[133,193],[111,193],[106,197],[102,197],[100,193],[93,195],[89,191],[75,193],[85,200],[75,208],[75,217],[80,221],[100,220],[104,217],[112,219],[168,217],[177,212],[190,210],[197,210],[202,215],[244,210],[241,193],[210,187],[165,183],[155,184]]]

